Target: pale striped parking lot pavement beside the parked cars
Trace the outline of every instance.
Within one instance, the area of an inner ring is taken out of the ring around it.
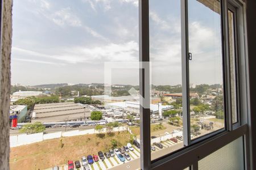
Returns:
[[[180,141],[179,139],[177,139],[177,143],[181,143],[182,141]],[[161,142],[163,145],[163,148],[158,148],[157,146],[155,146],[155,151],[151,151],[152,153],[154,152],[158,152],[159,150],[164,150],[164,148],[168,148],[171,146],[175,146],[177,145],[177,143],[172,142],[170,140]],[[127,152],[130,156],[131,156],[131,160],[127,161],[125,160],[125,162],[121,162],[121,160],[119,160],[117,158],[117,155],[115,155],[114,157],[110,157],[110,158],[105,158],[103,161],[100,159],[98,162],[94,162],[93,164],[90,164],[89,167],[90,169],[94,169],[94,170],[101,170],[101,169],[111,169],[113,167],[117,167],[118,165],[122,165],[125,163],[132,163],[134,159],[138,159],[139,155],[140,155],[140,150],[139,148],[137,148],[136,146],[133,145],[134,151],[129,151]],[[84,155],[81,155],[81,157]],[[73,160],[73,162],[75,162],[76,160]],[[81,160],[80,160],[80,164],[81,164]],[[139,166],[139,165],[138,165]],[[59,165],[59,168],[61,170],[68,170],[68,165]],[[139,167],[138,167],[139,168]],[[50,169],[50,168],[49,168]],[[77,168],[77,169],[81,169],[81,168]]]

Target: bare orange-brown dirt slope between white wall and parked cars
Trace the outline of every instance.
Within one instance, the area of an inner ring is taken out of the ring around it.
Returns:
[[[104,138],[89,134],[61,139],[63,148],[60,147],[60,138],[11,148],[10,169],[46,169],[65,164],[68,160],[80,160],[81,156],[97,154],[111,147],[112,139],[116,139],[121,146],[125,145],[130,133],[117,132],[113,137],[105,135]]]

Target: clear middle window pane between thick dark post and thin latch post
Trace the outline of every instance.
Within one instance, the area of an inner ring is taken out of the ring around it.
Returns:
[[[150,1],[151,159],[183,147],[180,1]]]

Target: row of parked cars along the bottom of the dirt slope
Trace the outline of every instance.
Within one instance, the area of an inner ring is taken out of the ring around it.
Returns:
[[[127,143],[127,146],[114,148],[114,150],[109,150],[105,153],[98,151],[98,155],[82,156],[81,163],[79,160],[76,160],[75,163],[72,160],[68,160],[68,169],[73,170],[74,168],[80,168],[82,166],[87,170],[90,169],[88,164],[93,164],[94,162],[98,162],[99,159],[104,160],[106,158],[114,157],[115,155],[117,155],[117,158],[121,162],[125,162],[125,160],[131,160],[131,156],[128,153],[133,150],[134,148],[131,146],[131,143]]]

